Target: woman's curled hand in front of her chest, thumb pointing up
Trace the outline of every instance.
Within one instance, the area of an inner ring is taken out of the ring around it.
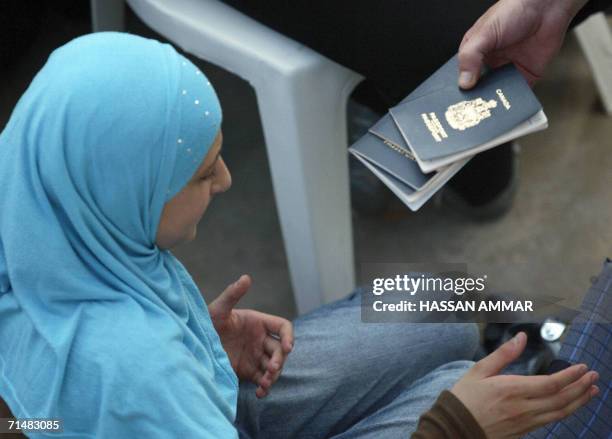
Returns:
[[[208,311],[236,375],[257,384],[255,394],[263,398],[293,349],[293,325],[270,314],[234,309],[250,287],[251,278],[240,276],[208,305]]]

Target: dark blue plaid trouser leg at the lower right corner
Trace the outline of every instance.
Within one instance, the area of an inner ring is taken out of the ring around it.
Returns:
[[[599,395],[568,418],[530,433],[529,439],[609,438],[612,435],[612,261],[587,292],[559,358],[599,373]]]

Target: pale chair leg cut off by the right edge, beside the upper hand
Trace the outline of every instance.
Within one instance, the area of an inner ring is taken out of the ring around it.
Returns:
[[[603,12],[576,27],[576,36],[591,65],[604,108],[612,115],[612,32]]]

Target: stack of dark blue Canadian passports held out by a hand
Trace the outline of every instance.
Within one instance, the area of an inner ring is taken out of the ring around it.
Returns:
[[[467,91],[457,76],[455,55],[349,148],[414,211],[474,155],[548,126],[513,65]]]

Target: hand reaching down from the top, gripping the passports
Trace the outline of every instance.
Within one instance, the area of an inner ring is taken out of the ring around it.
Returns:
[[[500,0],[467,31],[459,47],[459,86],[480,72],[513,62],[533,85],[561,48],[572,18],[587,0]]]

